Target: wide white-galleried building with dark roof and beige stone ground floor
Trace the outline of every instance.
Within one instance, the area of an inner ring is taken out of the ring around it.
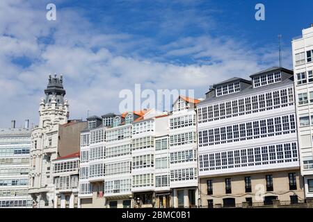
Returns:
[[[294,73],[272,67],[213,85],[197,105],[201,205],[303,201]]]

